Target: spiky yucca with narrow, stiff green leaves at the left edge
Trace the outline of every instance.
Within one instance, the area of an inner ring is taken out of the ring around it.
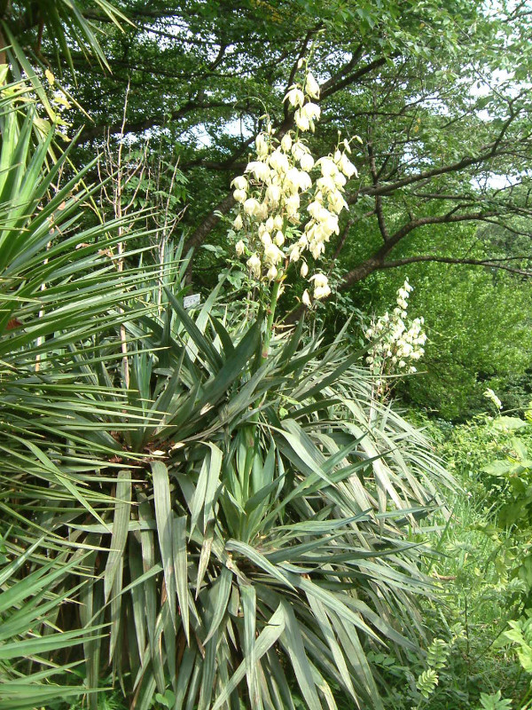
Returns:
[[[35,134],[35,106],[19,102],[22,93],[27,95],[24,83],[11,85],[0,115],[0,509],[6,555],[15,556],[0,572],[0,655],[4,661],[19,659],[2,667],[0,704],[6,708],[34,706],[39,695],[43,701],[54,693],[57,697],[59,690],[51,685],[33,687],[34,681],[49,683],[51,675],[69,667],[64,658],[59,665],[52,662],[44,651],[64,649],[74,639],[89,643],[94,635],[94,622],[89,636],[70,623],[69,631],[40,641],[43,628],[53,628],[61,603],[68,599],[70,604],[88,549],[65,540],[64,528],[51,537],[48,531],[72,505],[100,519],[95,505],[102,494],[90,490],[85,478],[94,461],[98,466],[117,445],[106,424],[98,428],[88,417],[101,408],[103,398],[106,417],[116,414],[117,428],[128,424],[116,404],[121,391],[111,385],[113,397],[106,396],[109,388],[96,387],[80,374],[82,359],[104,340],[111,357],[124,345],[120,337],[115,343],[116,327],[131,292],[132,316],[151,309],[143,290],[149,269],[121,272],[113,256],[119,238],[127,243],[129,235],[142,239],[145,233],[136,232],[131,220],[103,225],[87,217],[92,191],[82,187],[82,180],[90,166],[72,170],[68,151],[53,146],[52,129]],[[53,163],[51,146],[58,156]],[[124,236],[125,227],[129,234]],[[137,258],[121,256],[128,257]],[[85,461],[69,457],[72,442],[80,439]],[[43,536],[47,554],[35,551]],[[30,601],[35,590],[39,594]],[[43,655],[34,655],[34,648]],[[21,668],[30,666],[20,656],[37,667],[27,681]],[[79,694],[79,687],[71,692]]]

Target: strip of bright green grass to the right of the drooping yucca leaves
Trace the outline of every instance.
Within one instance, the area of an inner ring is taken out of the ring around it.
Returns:
[[[529,676],[503,635],[508,622],[519,618],[528,595],[518,570],[522,547],[516,531],[497,525],[502,490],[482,471],[485,464],[504,456],[510,435],[497,432],[489,417],[480,417],[453,430],[433,428],[438,452],[457,477],[451,497],[450,519],[429,533],[438,556],[428,563],[442,588],[441,603],[428,605],[427,624],[445,638],[450,627],[461,634],[448,665],[423,710],[476,710],[481,693],[520,699]],[[522,437],[529,439],[528,432]],[[496,705],[497,706],[497,705]]]

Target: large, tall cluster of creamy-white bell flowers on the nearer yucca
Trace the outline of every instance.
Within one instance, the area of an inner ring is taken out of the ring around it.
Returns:
[[[256,280],[281,281],[289,264],[299,263],[303,278],[312,284],[312,296],[331,293],[324,273],[309,276],[306,252],[317,261],[325,243],[339,233],[339,215],[348,209],[343,192],[356,168],[348,158],[348,140],[340,141],[334,154],[314,160],[301,134],[315,129],[320,117],[319,86],[310,72],[304,83],[293,84],[285,101],[292,106],[296,130],[276,138],[268,124],[255,140],[256,155],[244,175],[231,186],[239,211],[232,225],[240,239],[238,256]],[[311,175],[314,174],[314,175]],[[302,301],[311,304],[309,290]]]

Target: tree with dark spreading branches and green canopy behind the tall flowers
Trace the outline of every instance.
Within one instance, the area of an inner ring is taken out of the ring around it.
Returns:
[[[351,216],[335,244],[348,265],[342,288],[429,261],[528,274],[527,250],[494,261],[489,253],[467,256],[469,245],[459,240],[427,249],[421,239],[409,249],[415,234],[434,225],[507,225],[530,214],[525,5],[489,12],[477,0],[396,0],[386,8],[374,0],[149,7],[128,0],[122,11],[135,27],[115,28],[101,6],[85,12],[106,30],[101,42],[113,74],[73,49],[72,63],[62,61],[64,83],[73,82],[74,66],[77,96],[92,119],[82,130],[90,151],[120,133],[128,83],[126,130],[179,146],[191,193],[209,186],[187,213],[190,246],[215,239],[220,213],[231,210],[229,184],[243,169],[264,107],[278,135],[292,126],[282,98],[298,59],[312,51],[328,129],[319,140],[333,145],[341,127],[363,141],[360,177],[348,184]],[[23,41],[52,62],[40,25],[25,20],[20,27],[27,28]],[[526,221],[518,231],[529,233]]]

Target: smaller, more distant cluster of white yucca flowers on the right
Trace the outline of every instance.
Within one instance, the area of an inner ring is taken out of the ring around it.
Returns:
[[[408,320],[408,298],[412,287],[408,279],[397,291],[396,306],[386,312],[365,331],[372,348],[366,358],[372,375],[391,375],[399,372],[416,372],[413,362],[419,360],[425,350],[426,334],[423,318]],[[378,385],[381,386],[381,382]]]

